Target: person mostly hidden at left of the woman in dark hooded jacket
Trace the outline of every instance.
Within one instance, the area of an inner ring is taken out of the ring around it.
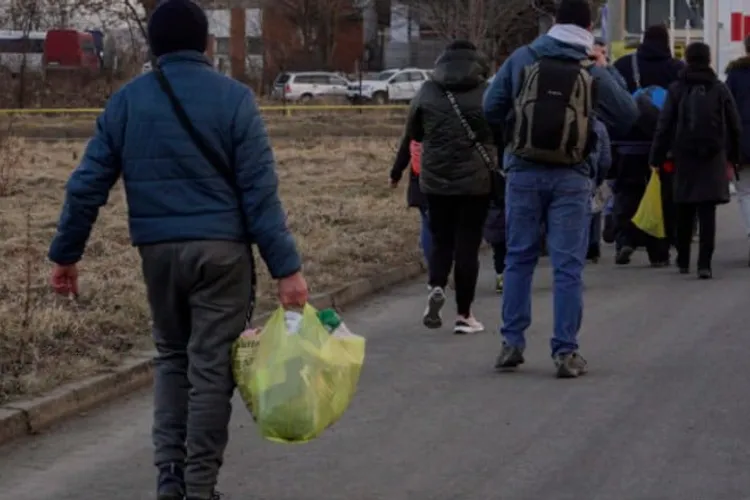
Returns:
[[[419,188],[419,169],[422,145],[417,141],[403,137],[401,146],[396,153],[396,160],[391,168],[391,187],[398,187],[404,170],[409,169],[409,186],[406,190],[406,204],[410,208],[419,209],[421,229],[419,232],[419,246],[422,249],[425,263],[429,265],[432,251],[432,236],[430,235],[430,219],[427,216],[427,199]]]

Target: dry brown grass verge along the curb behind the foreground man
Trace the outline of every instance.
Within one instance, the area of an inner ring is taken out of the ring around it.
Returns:
[[[394,142],[276,141],[281,194],[313,293],[419,259],[418,217],[387,182]],[[46,252],[83,144],[15,139],[4,148],[20,160],[14,189],[0,197],[0,403],[116,365],[149,341],[122,187],[99,215],[80,266],[81,296],[70,302],[49,290]],[[273,307],[274,291],[262,268],[260,308]]]

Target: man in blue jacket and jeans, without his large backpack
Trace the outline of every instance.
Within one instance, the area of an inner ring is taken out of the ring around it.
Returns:
[[[555,25],[546,35],[517,49],[503,64],[484,96],[487,121],[508,127],[508,116],[519,95],[526,66],[538,58],[583,61],[593,54],[592,13],[587,0],[558,3]],[[638,119],[633,98],[599,57],[590,74],[596,88],[595,112],[614,137],[625,135]],[[503,134],[505,135],[505,134]],[[507,137],[507,135],[505,135]],[[559,377],[586,372],[578,353],[578,331],[583,315],[582,272],[588,239],[591,181],[589,168],[578,164],[556,168],[510,154],[505,168],[506,234],[503,293],[503,348],[495,364],[499,370],[524,362],[525,331],[531,324],[531,283],[541,248],[537,228],[546,222],[548,251],[554,268],[555,326],[552,357]]]

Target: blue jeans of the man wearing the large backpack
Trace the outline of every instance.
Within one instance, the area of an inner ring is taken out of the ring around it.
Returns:
[[[591,181],[565,168],[508,173],[503,326],[506,344],[523,349],[531,325],[531,283],[541,250],[538,228],[546,222],[554,276],[552,355],[578,349],[583,318],[583,267],[590,218]]]

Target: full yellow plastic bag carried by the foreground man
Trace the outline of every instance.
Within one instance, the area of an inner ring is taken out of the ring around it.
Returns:
[[[357,389],[365,339],[337,332],[329,333],[310,305],[296,332],[288,331],[283,309],[268,320],[246,391],[263,437],[304,443],[344,414]]]

